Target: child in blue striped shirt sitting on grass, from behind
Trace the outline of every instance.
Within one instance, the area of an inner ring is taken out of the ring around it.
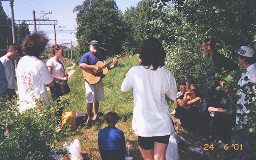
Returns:
[[[123,160],[126,152],[124,132],[115,127],[119,116],[110,111],[106,114],[105,122],[108,127],[98,133],[98,146],[102,160]]]

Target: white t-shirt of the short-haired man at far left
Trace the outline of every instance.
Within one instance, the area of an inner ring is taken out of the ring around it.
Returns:
[[[5,68],[5,74],[6,74],[6,79],[8,82],[8,87],[9,89],[15,89],[16,83],[15,83],[15,70],[14,66],[12,64],[12,60],[10,60],[8,57],[5,55],[0,58],[2,64],[4,65]]]

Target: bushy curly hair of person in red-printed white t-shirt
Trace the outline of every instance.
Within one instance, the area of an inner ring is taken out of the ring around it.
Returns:
[[[27,35],[22,43],[24,55],[39,57],[49,40],[42,34]]]

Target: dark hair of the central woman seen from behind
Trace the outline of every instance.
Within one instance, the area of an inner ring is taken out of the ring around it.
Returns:
[[[161,42],[153,37],[146,39],[140,48],[140,59],[142,66],[153,66],[153,70],[164,66],[166,52]]]

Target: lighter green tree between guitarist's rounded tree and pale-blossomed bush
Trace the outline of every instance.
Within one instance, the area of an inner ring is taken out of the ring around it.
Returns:
[[[138,2],[136,8],[131,7],[124,12],[127,36],[123,49],[127,53],[138,54],[142,42],[148,36],[152,36],[148,22],[156,15],[156,11],[152,10],[153,6],[153,0],[142,0]]]

